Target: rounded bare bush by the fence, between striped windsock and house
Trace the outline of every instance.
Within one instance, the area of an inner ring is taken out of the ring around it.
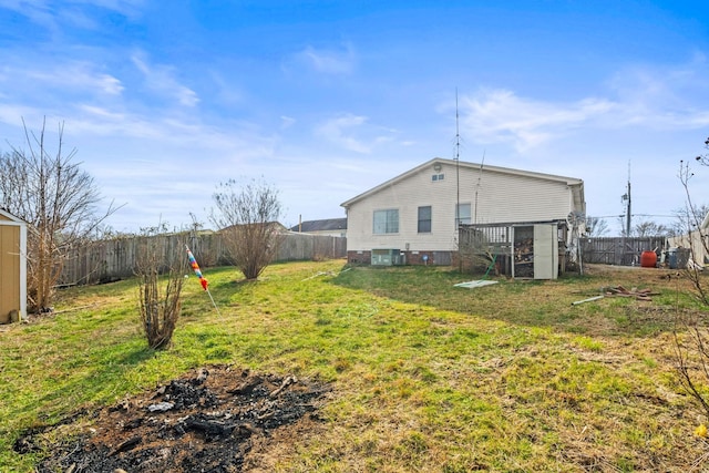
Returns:
[[[282,239],[278,191],[261,181],[222,183],[213,195],[210,220],[246,279],[256,279],[273,261]]]

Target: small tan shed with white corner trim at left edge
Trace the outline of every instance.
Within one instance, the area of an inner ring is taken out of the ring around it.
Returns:
[[[24,317],[27,317],[27,223],[0,209],[0,323]]]

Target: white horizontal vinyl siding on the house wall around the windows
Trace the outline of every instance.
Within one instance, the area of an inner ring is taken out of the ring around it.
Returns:
[[[565,219],[573,209],[572,187],[561,178],[493,166],[481,173],[476,166],[461,165],[459,171],[460,179],[433,182],[431,164],[351,199],[347,206],[348,250],[455,250],[456,202],[470,205],[473,224]],[[444,163],[436,174],[444,173],[450,177],[455,168]],[[419,207],[424,206],[431,207],[430,233],[419,232]],[[373,212],[393,208],[398,209],[398,233],[376,233]]]

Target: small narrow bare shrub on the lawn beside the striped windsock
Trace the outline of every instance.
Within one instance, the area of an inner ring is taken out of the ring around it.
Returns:
[[[182,247],[171,248],[161,236],[165,230],[165,226],[142,230],[135,269],[143,332],[155,350],[169,347],[182,309],[179,296],[187,270]]]

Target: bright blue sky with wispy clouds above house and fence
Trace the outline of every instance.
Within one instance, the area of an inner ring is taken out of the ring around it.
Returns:
[[[458,92],[462,161],[582,178],[615,233],[628,169],[634,223],[685,205],[708,56],[707,2],[0,0],[0,152],[63,123],[117,232],[261,176],[290,226],[455,157]]]

